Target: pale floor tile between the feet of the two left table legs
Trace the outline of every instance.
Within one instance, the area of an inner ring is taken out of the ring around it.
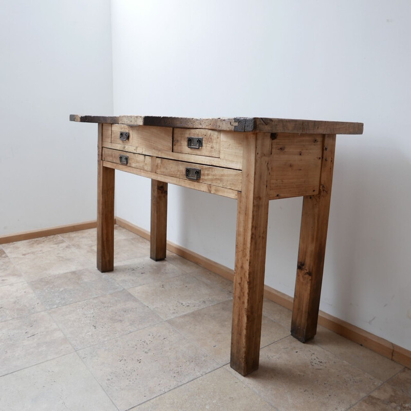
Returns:
[[[182,272],[165,260],[154,261],[145,256],[122,261],[115,265],[114,271],[107,274],[124,288],[132,288],[165,281],[167,278],[181,275]]]

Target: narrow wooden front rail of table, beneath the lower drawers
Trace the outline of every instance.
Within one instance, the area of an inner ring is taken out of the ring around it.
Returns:
[[[109,161],[104,161],[103,164],[105,167],[109,167],[110,169],[125,171],[127,173],[137,174],[139,176],[152,178],[154,180],[158,180],[160,178],[159,174],[148,172],[145,170],[134,169],[133,167],[128,167],[127,165],[110,163]],[[161,175],[161,180],[166,183],[181,185],[189,189],[199,190],[205,193],[217,194],[223,197],[229,197],[229,198],[236,199],[238,196],[237,190],[226,189],[224,187],[219,187],[217,185],[199,183],[198,181],[191,181],[191,180],[186,180],[186,179],[181,179],[181,178],[171,177],[171,176],[166,176],[166,175]]]

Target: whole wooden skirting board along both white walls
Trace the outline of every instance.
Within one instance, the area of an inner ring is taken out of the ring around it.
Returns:
[[[135,226],[134,224],[123,220],[122,218],[117,217],[116,223],[135,234],[140,235],[141,237],[149,240],[150,232],[144,230],[140,227]],[[7,242],[22,241],[32,238],[45,237],[48,235],[63,234],[72,231],[86,230],[90,228],[95,228],[97,226],[97,221],[86,221],[76,224],[68,224],[65,226],[52,227],[42,230],[33,230],[26,231],[23,233],[10,234],[0,236],[0,244],[6,244]],[[203,257],[190,251],[184,247],[181,247],[177,244],[174,244],[171,241],[167,241],[167,250],[189,260],[195,264],[198,264],[201,267],[204,267],[216,274],[221,275],[233,281],[234,271],[228,267],[225,267],[221,264],[216,263],[215,261]],[[280,292],[274,290],[269,286],[264,286],[264,296],[269,300],[277,303],[285,308],[292,309],[293,298]],[[372,351],[378,352],[384,357],[387,357],[393,361],[396,361],[399,364],[402,364],[408,368],[411,368],[411,351],[403,347],[400,347],[396,344],[393,344],[377,335],[371,334],[368,331],[365,331],[359,327],[356,327],[352,324],[349,324],[343,320],[338,319],[330,314],[327,314],[324,311],[320,311],[319,315],[319,324],[325,328],[328,328],[331,331],[334,331],[348,340],[356,342],[363,345],[364,347],[369,348]]]

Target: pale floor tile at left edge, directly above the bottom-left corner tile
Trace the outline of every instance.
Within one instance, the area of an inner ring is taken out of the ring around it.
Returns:
[[[0,375],[73,351],[47,312],[9,320],[0,326]]]

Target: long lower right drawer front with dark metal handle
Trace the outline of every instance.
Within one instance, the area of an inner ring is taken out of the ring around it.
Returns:
[[[157,158],[156,173],[184,180],[194,180],[198,184],[216,185],[241,191],[241,171],[239,170]]]

